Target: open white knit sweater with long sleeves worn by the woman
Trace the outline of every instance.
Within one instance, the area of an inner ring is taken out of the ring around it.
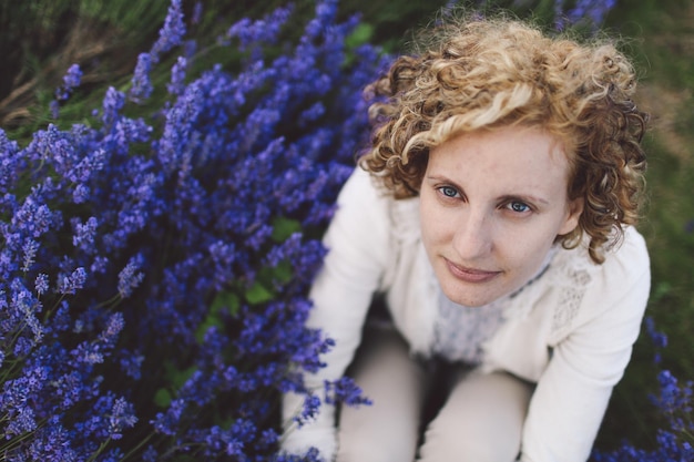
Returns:
[[[341,377],[360,342],[371,297],[384,292],[396,328],[412,353],[429,356],[439,314],[439,286],[421,245],[418,198],[395,201],[357,170],[338,198],[325,236],[329,248],[312,288],[308,325],[335,339],[327,367],[309,386]],[[483,342],[483,370],[506,370],[537,382],[523,427],[522,461],[585,461],[614,384],[629,362],[650,290],[642,236],[624,229],[620,246],[595,265],[584,247],[560,248],[545,273],[509,301],[504,319]],[[300,397],[284,400],[285,421]],[[302,429],[288,428],[283,448],[335,453],[334,409]]]

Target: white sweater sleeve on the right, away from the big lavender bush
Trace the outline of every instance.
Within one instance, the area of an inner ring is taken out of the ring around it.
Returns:
[[[523,428],[523,462],[588,460],[639,336],[650,283],[645,244],[629,229],[582,299],[580,311],[590,316],[554,346],[538,381]]]

